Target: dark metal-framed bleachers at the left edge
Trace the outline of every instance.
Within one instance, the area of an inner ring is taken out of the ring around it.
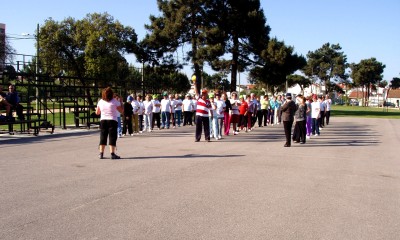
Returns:
[[[67,76],[64,73],[51,75],[41,73],[40,66],[26,58],[34,56],[20,55],[22,61],[6,63],[0,76],[0,85],[7,89],[9,84],[14,84],[19,93],[20,103],[24,107],[24,121],[16,120],[13,123],[1,123],[8,125],[8,131],[13,132],[13,126],[20,124],[21,132],[38,134],[41,128],[61,127],[66,128],[91,128],[99,124],[99,116],[95,114],[96,103],[101,97],[101,89],[105,86],[98,79],[85,79],[90,84],[82,84],[76,76]],[[31,68],[29,68],[31,66]],[[34,66],[34,67],[32,67]],[[31,71],[30,69],[34,69]],[[9,71],[9,70],[12,71]],[[15,71],[14,71],[15,70]],[[104,82],[104,81],[103,81]],[[120,95],[122,88],[112,86]],[[0,110],[2,111],[2,110]],[[73,124],[69,121],[73,114]],[[69,116],[68,116],[69,115]],[[4,127],[1,128],[4,131]]]

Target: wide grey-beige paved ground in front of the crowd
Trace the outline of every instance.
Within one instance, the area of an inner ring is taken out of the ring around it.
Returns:
[[[117,161],[97,131],[0,135],[0,239],[399,239],[399,129],[332,118],[284,148],[282,126],[181,127],[118,140]]]

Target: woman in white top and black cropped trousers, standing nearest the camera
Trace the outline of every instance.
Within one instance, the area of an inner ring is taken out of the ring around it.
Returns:
[[[108,144],[110,146],[111,159],[120,159],[115,154],[118,138],[118,115],[123,112],[122,103],[113,98],[114,93],[110,87],[103,89],[101,100],[97,103],[96,114],[100,115],[100,154],[103,159],[104,149]]]

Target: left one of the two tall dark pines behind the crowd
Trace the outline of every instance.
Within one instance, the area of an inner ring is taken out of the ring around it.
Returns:
[[[179,68],[180,63],[174,54],[178,54],[178,48],[191,45],[191,50],[182,55],[184,61],[192,61],[200,89],[200,72],[204,59],[200,56],[199,49],[204,45],[205,28],[208,25],[208,2],[210,1],[157,0],[161,16],[150,16],[150,24],[145,25],[149,33],[140,43],[143,50],[137,57],[153,64],[175,65]]]

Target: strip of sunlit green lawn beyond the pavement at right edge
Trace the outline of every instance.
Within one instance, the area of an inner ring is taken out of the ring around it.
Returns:
[[[398,108],[386,107],[382,109],[376,107],[333,105],[331,116],[400,119],[400,110]]]

